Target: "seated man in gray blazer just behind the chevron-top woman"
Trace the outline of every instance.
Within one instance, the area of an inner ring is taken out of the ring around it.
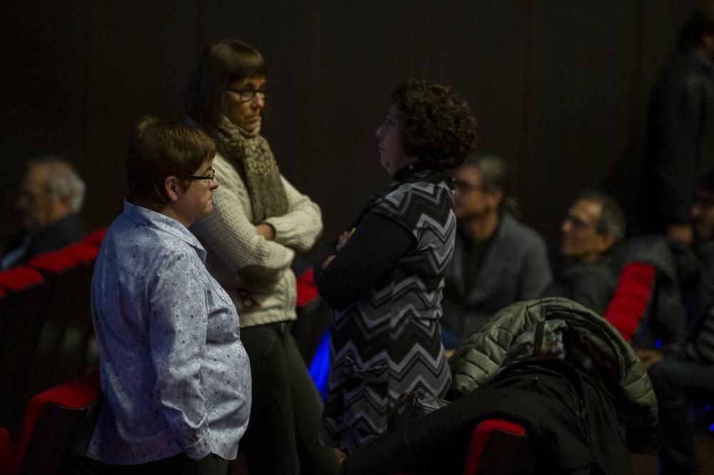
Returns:
[[[539,297],[553,280],[545,240],[513,217],[506,161],[472,154],[453,178],[458,232],[444,288],[447,348],[503,307]]]

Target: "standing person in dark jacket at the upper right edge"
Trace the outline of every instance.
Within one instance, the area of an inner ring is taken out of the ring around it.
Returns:
[[[714,2],[690,14],[657,78],[645,133],[638,215],[642,233],[690,245],[697,180],[714,168]]]

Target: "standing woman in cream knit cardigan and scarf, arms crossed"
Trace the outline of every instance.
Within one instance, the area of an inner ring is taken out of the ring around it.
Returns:
[[[290,265],[321,234],[321,212],[283,178],[261,136],[267,97],[266,65],[256,49],[226,39],[203,51],[184,106],[188,121],[216,143],[221,188],[213,193],[213,213],[191,231],[240,315],[253,406],[239,450],[251,473],[333,474],[337,456],[317,439],[322,403],[290,330],[296,318]]]

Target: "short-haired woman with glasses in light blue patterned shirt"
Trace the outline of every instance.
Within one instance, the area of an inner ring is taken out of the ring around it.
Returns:
[[[236,307],[189,231],[218,188],[213,142],[141,119],[126,159],[124,212],[91,287],[104,403],[87,456],[101,474],[224,475],[251,408]]]

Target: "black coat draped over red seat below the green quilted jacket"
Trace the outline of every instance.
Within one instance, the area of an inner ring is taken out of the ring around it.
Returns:
[[[471,431],[491,418],[526,429],[537,474],[632,473],[612,396],[558,359],[513,365],[488,386],[374,439],[341,473],[461,474]]]

